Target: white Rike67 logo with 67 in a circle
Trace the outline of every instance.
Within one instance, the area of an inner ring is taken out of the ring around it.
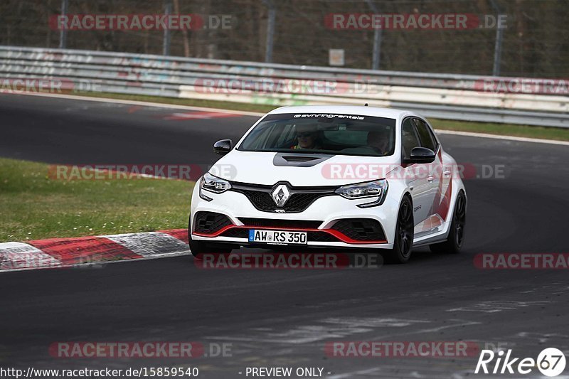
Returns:
[[[484,374],[521,374],[531,373],[535,368],[546,376],[557,376],[565,370],[565,354],[557,348],[546,348],[539,353],[537,360],[533,358],[513,358],[511,349],[494,353],[483,350],[478,358],[474,373]]]

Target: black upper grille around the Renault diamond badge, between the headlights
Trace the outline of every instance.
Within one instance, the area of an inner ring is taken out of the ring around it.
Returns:
[[[232,183],[231,191],[243,193],[255,208],[263,212],[284,210],[286,213],[298,213],[306,210],[310,204],[323,196],[334,195],[336,187],[297,187],[289,185],[290,197],[282,207],[275,204],[271,191],[275,186],[253,186],[243,183]]]

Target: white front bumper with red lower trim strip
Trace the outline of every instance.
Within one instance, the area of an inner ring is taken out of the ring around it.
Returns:
[[[358,208],[356,205],[369,203],[370,199],[349,200],[337,195],[324,196],[317,198],[314,203],[299,213],[272,213],[255,208],[243,193],[208,192],[207,196],[212,201],[205,201],[200,198],[198,191],[198,186],[196,186],[191,205],[191,238],[193,240],[228,242],[247,246],[251,245],[248,240],[250,229],[295,230],[307,232],[307,245],[311,247],[393,248],[398,205],[395,202],[395,207],[393,207],[389,199],[378,207]],[[227,220],[222,223],[223,225],[216,225],[216,228],[203,230],[196,223],[196,215],[203,217],[202,212],[225,215]],[[349,219],[369,220],[370,223],[363,223],[364,227],[379,225],[381,238],[368,237],[361,240],[361,237],[357,233],[351,233],[349,228],[341,228],[341,225],[349,225]],[[344,224],[339,224],[342,220]],[[258,245],[255,244],[255,246]],[[267,247],[272,247],[272,245],[267,245]]]

